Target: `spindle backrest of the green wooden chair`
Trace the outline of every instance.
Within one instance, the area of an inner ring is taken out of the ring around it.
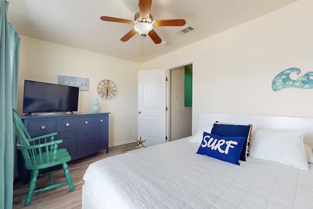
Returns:
[[[24,126],[24,123],[21,120],[21,117],[14,109],[12,109],[12,113],[13,113],[13,124],[15,127],[15,134],[18,140],[18,144],[29,146],[30,144],[28,140],[31,138]]]

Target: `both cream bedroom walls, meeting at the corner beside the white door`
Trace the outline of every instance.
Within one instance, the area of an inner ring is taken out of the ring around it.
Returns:
[[[313,1],[297,1],[143,64],[22,36],[18,111],[24,79],[57,83],[59,74],[87,77],[89,91],[80,91],[79,112],[90,113],[97,97],[100,112],[112,112],[110,145],[130,142],[137,136],[137,69],[195,61],[196,113],[313,117],[313,89],[271,89],[282,70],[313,71],[312,10]],[[100,99],[95,90],[105,78],[118,87],[111,101]]]

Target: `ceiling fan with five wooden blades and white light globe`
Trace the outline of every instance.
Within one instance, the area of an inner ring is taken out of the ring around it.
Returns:
[[[139,12],[135,14],[134,21],[108,16],[102,16],[100,19],[109,22],[134,24],[134,28],[121,38],[122,42],[128,41],[138,32],[143,37],[149,35],[155,44],[160,44],[162,39],[156,34],[156,31],[153,29],[153,25],[182,26],[186,24],[186,21],[183,19],[154,21],[152,15],[150,14],[151,4],[152,0],[139,0]]]

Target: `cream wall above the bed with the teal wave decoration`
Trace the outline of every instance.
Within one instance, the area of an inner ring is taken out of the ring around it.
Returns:
[[[194,60],[196,113],[312,117],[313,89],[271,89],[282,70],[297,67],[301,75],[313,71],[312,11],[313,1],[297,1],[146,62],[141,69]]]

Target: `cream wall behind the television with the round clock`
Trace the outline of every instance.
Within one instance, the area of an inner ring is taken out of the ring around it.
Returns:
[[[58,75],[89,78],[89,91],[79,91],[79,113],[91,113],[93,98],[99,112],[111,112],[110,145],[137,138],[137,70],[139,64],[21,36],[18,112],[22,113],[24,79],[58,83]],[[96,92],[99,81],[112,79],[118,88],[106,101]]]

